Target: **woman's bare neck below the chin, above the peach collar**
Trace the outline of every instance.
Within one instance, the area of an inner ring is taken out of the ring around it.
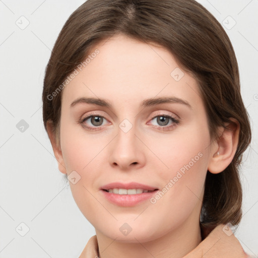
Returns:
[[[199,221],[185,221],[179,227],[149,242],[119,242],[96,230],[100,258],[180,258],[202,241]]]

